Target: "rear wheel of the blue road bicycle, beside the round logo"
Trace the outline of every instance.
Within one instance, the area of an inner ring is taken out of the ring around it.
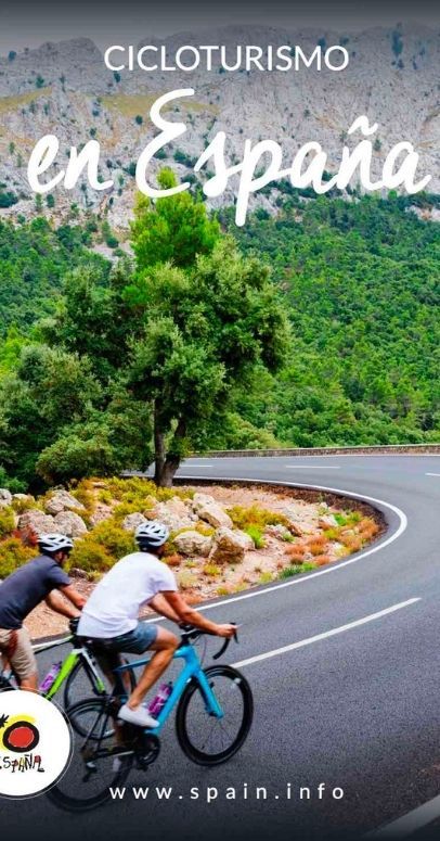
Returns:
[[[67,716],[80,722],[86,737],[75,734],[72,762],[48,798],[68,812],[87,812],[112,799],[111,789],[124,785],[133,752],[117,743],[107,698],[80,701]]]

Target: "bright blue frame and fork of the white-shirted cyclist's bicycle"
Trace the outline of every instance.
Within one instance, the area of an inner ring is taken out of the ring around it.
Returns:
[[[155,736],[159,735],[167,718],[170,716],[173,708],[176,706],[177,702],[182,696],[185,687],[187,686],[190,680],[193,680],[193,679],[197,680],[202,689],[207,713],[209,715],[215,716],[216,718],[223,717],[223,711],[219,702],[217,701],[217,698],[213,695],[211,687],[209,686],[209,681],[205,675],[205,672],[202,668],[200,661],[198,660],[198,657],[194,651],[194,648],[185,644],[181,646],[181,648],[178,648],[172,659],[173,660],[182,659],[185,661],[185,665],[182,668],[181,673],[179,674],[172,687],[172,691],[169,698],[167,698],[163,709],[156,716],[158,722],[157,727],[155,727],[154,729],[147,730],[147,732],[154,734]],[[127,672],[128,670],[134,671],[140,666],[145,666],[147,663],[150,663],[150,658],[145,658],[144,660],[135,660],[131,663],[125,663],[124,665],[115,668],[114,674],[120,675],[122,672]]]

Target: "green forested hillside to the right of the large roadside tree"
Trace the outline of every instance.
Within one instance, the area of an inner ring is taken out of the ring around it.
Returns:
[[[294,196],[234,228],[271,265],[294,331],[283,374],[238,410],[283,443],[440,437],[440,226],[406,205]]]

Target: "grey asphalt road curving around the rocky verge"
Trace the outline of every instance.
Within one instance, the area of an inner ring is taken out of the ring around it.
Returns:
[[[145,775],[133,773],[129,783],[152,791],[172,786],[170,801],[151,793],[138,802],[128,790],[122,802],[80,816],[57,812],[41,798],[2,801],[2,829],[8,821],[14,838],[35,837],[38,828],[38,838],[65,841],[318,841],[392,829],[439,794],[440,458],[193,459],[180,473],[358,494],[377,500],[389,530],[349,562],[209,608],[212,619],[243,623],[241,645],[231,646],[228,659],[250,661],[243,672],[256,702],[251,734],[228,765],[192,765],[169,727],[157,763]],[[308,645],[260,658],[303,640]],[[209,804],[208,786],[219,792]],[[267,788],[267,800],[256,800],[257,786]],[[310,788],[310,800],[299,800],[300,786]],[[199,800],[190,800],[191,787],[199,788]],[[224,799],[228,787],[235,788],[235,801]],[[335,788],[344,789],[341,800],[333,799]],[[433,841],[439,815],[440,804],[425,805],[394,834],[377,837],[405,838],[429,818],[429,829],[412,837]]]

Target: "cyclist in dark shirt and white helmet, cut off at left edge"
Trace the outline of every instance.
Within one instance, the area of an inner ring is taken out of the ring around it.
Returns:
[[[38,546],[41,555],[0,584],[0,652],[10,662],[20,687],[33,692],[38,690],[38,668],[24,620],[43,600],[68,619],[78,616],[86,603],[62,569],[74,547],[73,540],[64,534],[46,534],[39,537]]]

